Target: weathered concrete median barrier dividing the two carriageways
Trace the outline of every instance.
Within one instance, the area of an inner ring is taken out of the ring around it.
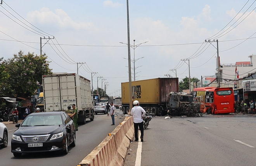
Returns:
[[[133,138],[133,117],[126,117],[110,136],[107,136],[80,163],[80,166],[123,166],[126,152]],[[132,124],[132,125],[131,125]]]

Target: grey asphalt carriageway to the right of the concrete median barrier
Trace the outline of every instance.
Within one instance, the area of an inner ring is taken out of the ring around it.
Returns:
[[[159,117],[148,128],[141,166],[256,165],[256,115]],[[137,144],[131,144],[126,166],[135,165]]]

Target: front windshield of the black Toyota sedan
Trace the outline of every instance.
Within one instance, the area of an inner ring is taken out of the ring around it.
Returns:
[[[22,126],[47,126],[61,125],[61,115],[29,115],[21,124]]]

